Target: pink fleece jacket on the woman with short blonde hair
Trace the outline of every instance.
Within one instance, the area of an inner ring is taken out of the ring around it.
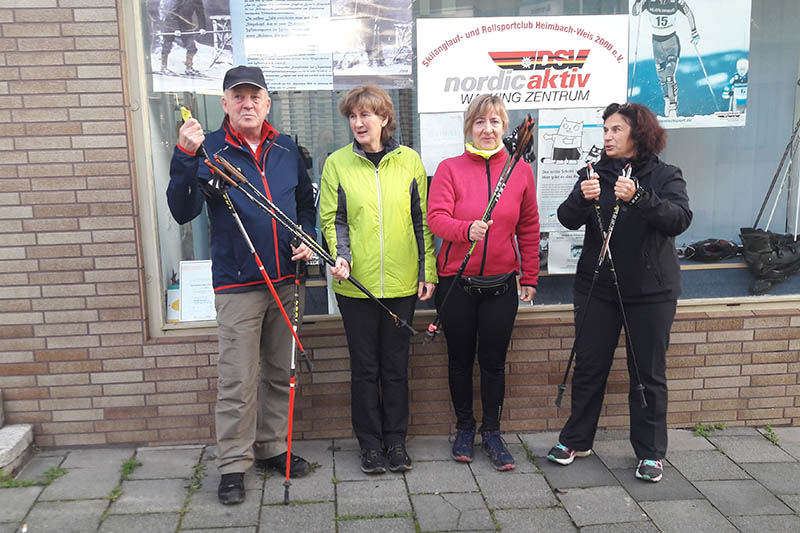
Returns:
[[[428,226],[444,240],[436,261],[439,276],[458,272],[470,246],[469,226],[483,216],[506,159],[505,150],[488,160],[465,151],[445,159],[436,169],[428,195]],[[535,287],[539,277],[539,208],[528,163],[517,164],[491,219],[494,222],[472,252],[464,275],[516,271],[521,285]]]

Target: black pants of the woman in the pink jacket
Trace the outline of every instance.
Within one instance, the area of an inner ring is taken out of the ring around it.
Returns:
[[[455,276],[439,278],[435,296],[447,338],[448,378],[456,428],[475,429],[472,367],[477,348],[483,406],[480,429],[497,431],[505,398],[506,352],[519,305],[516,279],[512,277],[509,289],[498,296],[471,296],[456,286],[442,308],[442,299],[454,280]]]

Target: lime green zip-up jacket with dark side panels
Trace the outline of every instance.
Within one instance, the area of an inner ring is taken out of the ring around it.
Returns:
[[[414,150],[394,139],[385,147],[378,168],[355,143],[328,156],[319,217],[331,255],[350,263],[351,276],[378,298],[401,298],[421,281],[438,281],[425,219],[428,178]],[[349,281],[333,280],[333,290],[366,298]]]

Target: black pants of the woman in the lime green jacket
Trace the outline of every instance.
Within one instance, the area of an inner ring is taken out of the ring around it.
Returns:
[[[366,298],[336,295],[350,350],[353,432],[362,448],[405,444],[408,433],[408,330]],[[382,298],[409,324],[417,295]]]

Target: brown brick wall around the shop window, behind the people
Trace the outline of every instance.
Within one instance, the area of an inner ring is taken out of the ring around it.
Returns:
[[[147,333],[122,4],[19,4],[0,0],[0,389],[7,422],[34,424],[40,446],[210,442],[215,337]],[[508,430],[557,429],[567,414],[553,402],[572,318],[541,311],[521,314],[512,340]],[[429,320],[419,317],[418,328]],[[668,359],[670,425],[800,423],[798,326],[797,310],[679,312]],[[349,435],[341,324],[306,325],[303,335],[315,371],[301,369],[296,436]],[[444,349],[443,340],[412,345],[413,433],[452,430]],[[604,427],[627,425],[626,391],[618,358]]]

